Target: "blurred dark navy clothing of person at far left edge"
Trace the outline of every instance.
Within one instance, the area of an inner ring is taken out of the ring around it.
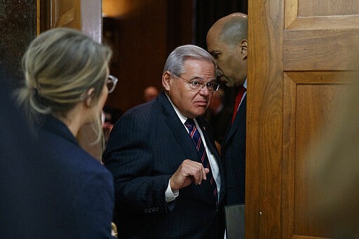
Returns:
[[[33,200],[38,192],[46,195],[46,191],[38,190],[42,180],[37,179],[46,170],[34,168],[33,162],[46,160],[39,157],[25,116],[14,102],[10,89],[4,88],[3,83],[0,87],[1,238],[50,238],[57,225],[43,218],[44,205]]]

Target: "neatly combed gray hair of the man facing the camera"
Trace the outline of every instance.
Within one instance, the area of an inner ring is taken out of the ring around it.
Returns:
[[[163,67],[163,73],[165,71],[170,71],[173,74],[183,74],[184,62],[189,59],[194,60],[204,60],[208,62],[212,62],[215,68],[216,62],[213,59],[212,55],[208,53],[203,48],[194,45],[184,45],[175,48],[175,50],[168,55],[168,58],[165,62],[165,67]]]

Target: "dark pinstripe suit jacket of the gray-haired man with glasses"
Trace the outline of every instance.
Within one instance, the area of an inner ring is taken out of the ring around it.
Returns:
[[[212,153],[215,144],[197,118]],[[122,238],[223,238],[223,198],[210,183],[191,184],[166,203],[171,175],[184,159],[201,162],[165,93],[127,111],[111,130],[104,165],[114,175],[118,234]],[[223,182],[223,181],[222,181]]]

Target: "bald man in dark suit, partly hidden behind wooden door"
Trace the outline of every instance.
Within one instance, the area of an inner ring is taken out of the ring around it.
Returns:
[[[215,22],[207,34],[208,52],[215,58],[220,80],[238,89],[231,125],[222,144],[226,205],[245,203],[245,115],[247,90],[248,17],[233,13]]]

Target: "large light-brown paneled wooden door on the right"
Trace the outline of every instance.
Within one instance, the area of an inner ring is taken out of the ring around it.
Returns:
[[[351,77],[359,1],[251,0],[248,19],[245,238],[330,238],[305,169]]]

